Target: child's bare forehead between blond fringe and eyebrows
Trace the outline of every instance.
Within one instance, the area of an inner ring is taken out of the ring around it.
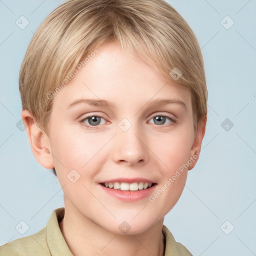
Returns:
[[[166,80],[132,52],[123,52],[118,42],[106,42],[98,53],[54,96],[55,104],[69,105],[81,98],[103,99],[127,106],[157,98],[190,104],[190,91],[171,78]],[[91,50],[91,52],[93,49]]]

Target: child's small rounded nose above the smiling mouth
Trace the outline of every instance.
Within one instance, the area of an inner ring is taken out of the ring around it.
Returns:
[[[148,160],[149,149],[146,146],[145,133],[134,126],[132,125],[127,131],[117,127],[117,134],[113,139],[112,157],[118,164],[144,164]]]

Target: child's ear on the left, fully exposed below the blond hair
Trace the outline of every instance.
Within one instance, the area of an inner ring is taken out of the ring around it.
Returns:
[[[37,126],[35,118],[28,110],[22,110],[21,117],[34,157],[44,168],[52,169],[54,164],[49,137]]]

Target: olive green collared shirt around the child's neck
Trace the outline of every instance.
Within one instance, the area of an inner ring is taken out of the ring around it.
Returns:
[[[73,256],[58,225],[63,216],[64,207],[55,209],[40,231],[0,246],[0,256]],[[165,238],[164,256],[192,255],[181,243],[175,241],[165,225],[162,226],[162,233]]]

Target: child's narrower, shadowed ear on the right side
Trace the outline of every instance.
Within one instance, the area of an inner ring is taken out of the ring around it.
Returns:
[[[207,116],[204,116],[198,122],[197,132],[194,135],[193,144],[190,149],[190,159],[192,159],[192,164],[190,165],[191,167],[188,167],[188,170],[192,169],[195,166],[199,158],[200,151],[201,151],[201,143],[205,133],[206,120],[207,120]]]

